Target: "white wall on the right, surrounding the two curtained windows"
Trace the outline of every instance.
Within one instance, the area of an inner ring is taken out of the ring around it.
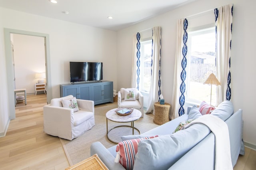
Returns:
[[[176,48],[176,23],[180,18],[186,18],[213,10],[216,7],[226,4],[234,4],[233,33],[232,33],[232,56],[231,56],[231,88],[232,102],[235,111],[243,109],[244,119],[244,140],[256,145],[256,114],[254,113],[254,97],[256,83],[254,56],[254,41],[256,35],[254,28],[256,22],[255,0],[198,0],[182,6],[168,13],[140,22],[134,26],[118,31],[118,89],[130,87],[131,63],[132,63],[132,35],[136,32],[152,28],[162,27],[162,48],[161,48],[161,91],[167,103],[172,103],[172,89],[174,77],[174,61]],[[200,16],[202,16],[201,14]],[[207,14],[208,15],[208,12]],[[204,15],[203,15],[204,16]],[[193,19],[193,17],[190,17]],[[214,19],[214,18],[213,18]],[[188,23],[189,24],[189,23]]]

